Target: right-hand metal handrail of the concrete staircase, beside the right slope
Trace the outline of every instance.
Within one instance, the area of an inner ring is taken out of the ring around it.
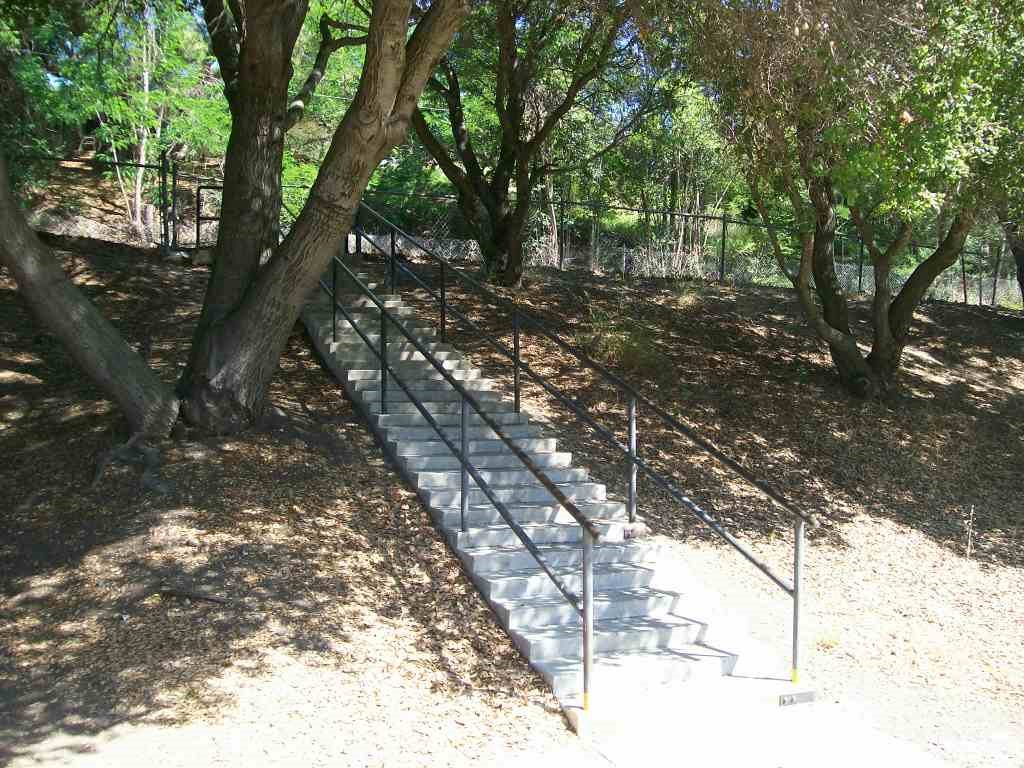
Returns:
[[[380,221],[384,226],[386,226],[386,227],[388,227],[390,229],[391,241],[392,241],[392,250],[394,250],[393,249],[394,236],[395,236],[395,232],[397,232],[399,236],[401,236],[402,239],[404,239],[406,241],[408,241],[412,245],[415,245],[416,247],[418,247],[426,256],[428,256],[430,259],[432,259],[434,262],[438,263],[441,266],[442,280],[443,280],[443,276],[446,274],[446,272],[449,272],[449,271],[450,272],[454,272],[457,279],[459,279],[460,281],[462,281],[466,285],[469,285],[469,286],[475,288],[477,292],[484,294],[489,299],[492,299],[496,304],[498,304],[500,306],[504,306],[504,307],[506,307],[506,308],[508,308],[508,309],[510,309],[512,311],[512,313],[513,313],[512,316],[513,316],[513,325],[514,325],[514,334],[515,334],[516,338],[515,338],[515,349],[514,350],[509,350],[508,347],[506,347],[501,342],[498,342],[497,339],[494,339],[488,334],[484,333],[482,331],[482,329],[479,328],[479,326],[477,326],[475,323],[473,323],[468,317],[466,317],[462,312],[459,312],[458,310],[455,310],[453,307],[443,307],[442,306],[442,316],[445,316],[447,314],[447,312],[450,312],[450,311],[453,312],[455,314],[455,316],[459,317],[460,319],[464,319],[465,322],[467,322],[467,324],[474,331],[476,331],[478,334],[480,334],[481,338],[483,338],[488,343],[490,343],[492,346],[494,346],[496,349],[498,349],[503,354],[505,354],[506,356],[508,356],[509,358],[512,359],[512,362],[513,362],[513,365],[515,367],[515,376],[516,376],[515,398],[516,398],[517,404],[518,404],[518,400],[519,400],[518,373],[521,370],[521,371],[524,371],[527,375],[529,375],[550,395],[552,395],[558,401],[562,402],[567,408],[569,408],[575,414],[575,416],[578,418],[580,418],[589,427],[591,427],[591,429],[593,429],[594,431],[596,431],[601,437],[603,437],[606,441],[608,441],[609,443],[611,443],[614,447],[616,447],[620,452],[622,452],[624,454],[624,456],[630,462],[630,469],[631,469],[631,472],[630,472],[630,475],[631,475],[630,476],[630,497],[629,497],[629,506],[630,506],[630,512],[631,512],[630,519],[631,520],[633,519],[633,513],[635,512],[635,505],[636,505],[636,475],[635,475],[635,473],[636,473],[636,470],[639,469],[639,470],[642,470],[647,477],[649,477],[650,479],[652,479],[664,490],[666,490],[675,501],[679,502],[687,510],[689,510],[698,520],[700,520],[702,523],[705,523],[706,525],[708,525],[719,538],[721,538],[729,546],[731,546],[733,549],[735,549],[737,552],[739,552],[739,554],[745,560],[748,560],[758,570],[760,570],[762,573],[764,573],[773,584],[775,584],[779,589],[781,589],[783,592],[785,592],[793,599],[794,605],[793,605],[793,648],[792,648],[793,666],[792,666],[792,679],[793,679],[794,682],[797,682],[797,680],[799,678],[799,656],[800,656],[800,642],[799,642],[800,629],[799,629],[799,627],[800,627],[801,574],[802,574],[802,565],[803,565],[803,544],[804,544],[804,535],[805,535],[805,527],[806,527],[806,525],[808,525],[808,524],[814,525],[815,524],[813,516],[812,515],[808,515],[808,514],[804,513],[803,511],[796,509],[792,505],[792,503],[787,499],[785,499],[781,494],[779,494],[774,488],[772,488],[771,486],[769,486],[767,483],[765,483],[762,480],[760,480],[759,478],[757,478],[753,473],[751,473],[749,470],[746,470],[736,460],[734,460],[731,457],[727,456],[723,451],[721,451],[721,449],[719,449],[718,446],[714,445],[710,440],[707,440],[706,438],[700,437],[699,435],[697,435],[695,433],[695,431],[692,430],[691,428],[689,428],[689,427],[683,425],[682,423],[680,423],[678,419],[676,419],[672,415],[668,414],[666,411],[664,411],[662,408],[659,408],[655,403],[651,402],[647,397],[645,397],[643,394],[641,394],[640,392],[638,392],[628,382],[624,381],[621,377],[618,377],[615,374],[613,374],[610,371],[608,371],[604,366],[601,366],[599,362],[596,362],[595,360],[591,359],[591,357],[589,355],[587,355],[582,349],[579,349],[578,347],[573,346],[572,344],[569,344],[567,341],[565,341],[560,336],[558,336],[557,333],[555,333],[551,329],[547,328],[541,321],[539,321],[538,318],[534,317],[532,315],[530,315],[530,314],[528,314],[528,313],[526,313],[524,311],[522,311],[519,308],[518,304],[516,304],[513,301],[509,301],[508,299],[506,299],[503,296],[499,296],[494,291],[492,291],[489,288],[487,288],[486,286],[484,286],[481,282],[479,282],[479,281],[471,278],[470,275],[466,274],[461,269],[459,269],[458,267],[454,266],[447,259],[445,259],[442,256],[439,256],[436,253],[434,253],[430,248],[428,248],[421,241],[419,241],[418,239],[416,239],[413,236],[409,234],[408,232],[406,232],[403,229],[401,229],[396,224],[393,224],[392,222],[390,222],[382,214],[380,214],[379,212],[377,212],[376,210],[374,210],[373,208],[371,208],[366,203],[361,203],[360,207],[364,210],[366,210],[371,216],[373,216],[378,221]],[[361,236],[361,229],[359,230],[359,234]],[[370,240],[370,242],[375,247],[377,247],[377,248],[380,249],[380,247],[377,246],[377,244],[374,242],[373,238],[368,238],[368,240]],[[380,249],[380,250],[385,254],[385,256],[387,255],[387,252],[385,252],[383,249]],[[419,285],[421,285],[424,288],[426,288],[427,291],[428,291],[428,293],[430,294],[430,296],[432,298],[434,298],[435,300],[443,301],[443,298],[439,297],[433,290],[431,290],[429,288],[429,286],[427,286],[426,283],[421,278],[419,278],[418,274],[415,273],[414,270],[410,269],[409,267],[406,267],[403,264],[396,264],[396,262],[397,262],[397,259],[392,256],[391,257],[391,263],[390,263],[390,269],[391,270],[394,270],[395,268],[401,268],[402,271],[404,271],[406,273],[414,276],[416,279],[416,282]],[[442,289],[443,288],[444,288],[444,286],[442,285]],[[393,289],[393,280],[392,280],[392,289]],[[528,366],[528,364],[525,364],[525,362],[523,362],[521,360],[521,358],[519,357],[519,354],[518,354],[518,346],[519,345],[518,345],[518,338],[517,337],[518,337],[518,332],[519,332],[519,326],[522,323],[522,321],[525,321],[527,323],[527,325],[529,325],[532,328],[535,328],[543,336],[545,336],[546,338],[548,338],[549,340],[551,340],[552,342],[554,342],[555,344],[557,344],[558,346],[560,346],[561,348],[563,348],[564,350],[566,350],[567,352],[569,352],[570,354],[572,354],[578,360],[580,360],[581,362],[583,362],[585,366],[587,366],[591,370],[596,371],[605,380],[609,381],[616,388],[618,388],[625,394],[628,394],[630,396],[629,426],[628,426],[629,442],[630,442],[630,444],[628,446],[624,445],[618,440],[618,438],[615,437],[615,435],[610,430],[608,430],[603,425],[599,424],[584,409],[580,408],[580,406],[577,404],[568,395],[566,395],[564,392],[562,392],[558,387],[554,386],[553,384],[551,384],[550,382],[548,382],[547,380],[545,380],[544,377],[541,376],[540,374],[538,374],[536,371],[534,371],[532,368],[530,368]],[[693,443],[698,449],[700,449],[701,451],[703,451],[707,454],[709,454],[710,456],[712,456],[714,459],[716,459],[719,463],[721,463],[727,469],[729,469],[732,472],[734,472],[735,474],[739,475],[742,479],[744,479],[751,485],[753,485],[758,490],[760,490],[769,501],[771,501],[773,504],[775,504],[777,507],[779,507],[780,509],[782,509],[783,511],[785,511],[786,513],[788,513],[793,517],[793,519],[794,519],[794,526],[795,526],[795,531],[794,531],[795,542],[794,542],[794,574],[793,574],[793,581],[792,581],[792,583],[787,583],[786,581],[784,581],[783,579],[781,579],[780,577],[778,577],[768,565],[766,565],[765,563],[763,563],[762,561],[760,561],[748,548],[745,548],[739,541],[737,541],[735,537],[733,537],[728,530],[726,530],[722,526],[722,524],[720,522],[718,522],[718,520],[716,520],[710,513],[708,513],[699,505],[697,505],[695,502],[693,502],[689,497],[687,497],[685,494],[683,494],[681,490],[679,490],[674,485],[674,483],[671,480],[669,480],[662,473],[659,473],[655,469],[653,469],[647,462],[645,462],[642,459],[640,459],[640,457],[637,455],[637,451],[636,451],[636,411],[637,411],[637,403],[643,403],[643,406],[645,408],[647,408],[648,411],[651,414],[653,414],[655,417],[657,417],[657,419],[665,426],[668,426],[668,427],[672,428],[673,430],[675,430],[675,431],[679,432],[680,434],[682,434],[684,437],[686,437],[688,440],[690,440],[691,443]]]

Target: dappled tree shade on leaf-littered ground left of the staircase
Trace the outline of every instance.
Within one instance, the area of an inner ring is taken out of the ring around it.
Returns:
[[[75,245],[79,285],[172,381],[205,270]],[[92,487],[124,425],[4,272],[0,359],[0,763],[222,712],[218,679],[274,647],[353,670],[415,647],[439,694],[549,698],[298,329],[264,424],[168,442],[164,496],[131,467]]]

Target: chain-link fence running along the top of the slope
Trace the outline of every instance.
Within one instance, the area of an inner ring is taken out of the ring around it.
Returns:
[[[183,246],[216,242],[220,189],[180,174],[176,212],[169,217]],[[301,210],[307,189],[285,189],[282,229]],[[480,261],[473,229],[454,197],[368,190],[368,205],[440,256],[467,263]],[[197,207],[198,202],[198,207]],[[196,214],[199,214],[198,217]],[[191,218],[186,225],[186,218]],[[371,221],[364,222],[372,233]],[[800,266],[801,246],[788,227],[776,227],[786,271]],[[897,293],[934,246],[911,243],[907,258],[889,275]],[[767,227],[760,221],[725,215],[691,214],[572,201],[537,201],[524,240],[527,266],[583,269],[630,278],[674,278],[726,282],[742,286],[788,287],[779,270]],[[833,258],[836,276],[850,294],[873,294],[874,273],[860,240],[837,234]],[[1005,251],[965,250],[955,267],[940,274],[929,290],[934,300],[1021,307],[1012,257]]]

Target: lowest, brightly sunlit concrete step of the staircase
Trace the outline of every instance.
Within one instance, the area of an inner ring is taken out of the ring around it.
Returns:
[[[594,657],[592,689],[602,700],[636,700],[652,686],[702,683],[731,675],[736,658],[699,643],[598,653]],[[537,659],[531,666],[558,699],[579,706],[583,691],[579,656]],[[699,707],[699,701],[695,705]]]

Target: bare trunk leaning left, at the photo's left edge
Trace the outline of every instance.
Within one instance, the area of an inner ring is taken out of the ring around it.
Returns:
[[[178,418],[178,400],[138,353],[65,274],[25,220],[0,156],[0,263],[39,322],[121,409],[135,434],[163,437]]]

